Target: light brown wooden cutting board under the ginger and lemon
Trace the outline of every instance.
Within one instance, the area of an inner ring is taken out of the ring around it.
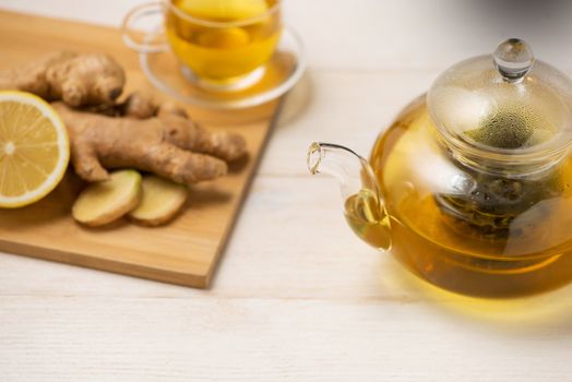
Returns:
[[[124,47],[118,29],[0,11],[0,69],[55,50],[107,52],[126,69],[127,92],[160,96]],[[190,189],[186,210],[158,228],[119,222],[90,229],[70,216],[84,186],[69,170],[47,198],[19,210],[0,210],[0,250],[192,287],[207,287],[269,138],[279,100],[238,111],[189,107],[203,127],[241,133],[250,157],[227,177]]]

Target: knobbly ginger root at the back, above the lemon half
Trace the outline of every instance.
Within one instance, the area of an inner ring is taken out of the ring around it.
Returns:
[[[34,93],[72,107],[112,105],[121,95],[123,69],[109,56],[61,51],[0,71],[0,89]]]

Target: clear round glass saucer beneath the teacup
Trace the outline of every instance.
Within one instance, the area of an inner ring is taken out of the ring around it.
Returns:
[[[147,36],[153,40],[154,36]],[[199,86],[189,79],[171,51],[140,53],[141,68],[151,83],[169,96],[195,106],[238,109],[264,104],[289,91],[306,69],[306,57],[298,35],[284,28],[276,52],[261,71],[260,80],[238,91],[217,92]]]

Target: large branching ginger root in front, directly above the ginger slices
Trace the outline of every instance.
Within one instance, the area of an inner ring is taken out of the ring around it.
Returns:
[[[247,152],[242,136],[207,132],[178,108],[136,119],[74,110],[62,103],[52,106],[68,128],[75,172],[87,181],[108,179],[106,168],[135,168],[192,184],[225,175],[225,160]]]

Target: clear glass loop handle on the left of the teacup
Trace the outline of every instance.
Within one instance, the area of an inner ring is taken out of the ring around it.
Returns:
[[[121,24],[121,38],[129,48],[140,53],[157,53],[169,49],[167,43],[148,40],[148,35],[147,38],[138,38],[136,35],[141,35],[141,31],[138,32],[133,28],[133,24],[142,19],[163,14],[164,7],[163,1],[152,1],[138,5],[126,14]]]

